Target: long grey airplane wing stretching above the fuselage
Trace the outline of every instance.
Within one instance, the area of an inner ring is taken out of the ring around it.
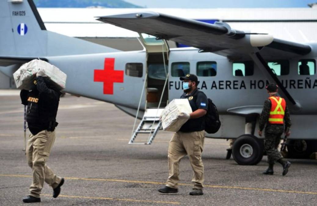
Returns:
[[[172,40],[204,52],[232,60],[251,59],[249,53],[261,51],[264,59],[293,58],[308,54],[309,45],[274,39],[268,34],[248,34],[231,29],[227,23],[209,24],[156,12],[101,16],[97,20],[115,26]]]

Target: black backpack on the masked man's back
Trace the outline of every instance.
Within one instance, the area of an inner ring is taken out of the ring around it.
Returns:
[[[209,134],[214,134],[218,132],[220,126],[221,122],[217,107],[212,100],[208,99],[208,110],[205,115],[205,131]]]

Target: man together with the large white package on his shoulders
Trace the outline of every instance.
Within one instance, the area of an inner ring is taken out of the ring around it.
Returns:
[[[41,76],[46,74],[49,76]],[[26,157],[32,168],[33,181],[30,193],[23,198],[23,202],[41,202],[40,194],[44,182],[53,188],[53,197],[56,198],[61,192],[64,178],[55,175],[46,162],[55,142],[60,90],[65,86],[64,83],[58,84],[53,79],[65,82],[66,74],[47,62],[32,60],[21,66],[14,76],[17,87],[22,89],[20,97],[22,104],[27,106],[26,121],[31,132]]]

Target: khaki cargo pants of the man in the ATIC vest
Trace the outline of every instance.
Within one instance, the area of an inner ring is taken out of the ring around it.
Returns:
[[[55,142],[55,131],[43,130],[36,135],[30,134],[26,148],[26,158],[33,171],[30,195],[40,197],[44,181],[53,188],[61,182],[54,172],[45,164]]]

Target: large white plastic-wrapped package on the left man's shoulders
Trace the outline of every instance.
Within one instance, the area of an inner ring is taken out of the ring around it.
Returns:
[[[18,89],[29,90],[36,76],[49,77],[60,90],[65,89],[67,75],[46,61],[34,59],[23,64],[13,73]]]

